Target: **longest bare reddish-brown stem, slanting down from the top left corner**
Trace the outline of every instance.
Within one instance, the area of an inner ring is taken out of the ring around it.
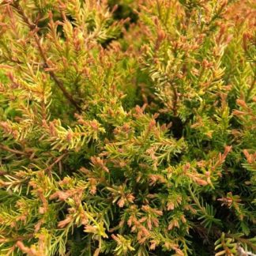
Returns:
[[[38,47],[38,50],[40,51],[41,57],[43,58],[44,67],[47,69],[51,69],[51,66],[49,66],[47,61],[47,55],[43,51],[43,47],[40,42],[40,36],[38,36],[37,34],[38,27],[36,26],[36,24],[34,24],[32,21],[29,20],[26,13],[24,13],[24,9],[22,9],[21,5],[18,2],[14,2],[12,6],[17,10],[17,13],[21,15],[23,21],[28,25],[28,28],[30,29],[30,31],[33,32],[36,45]],[[49,71],[49,73],[51,78],[55,81],[56,85],[58,85],[58,88],[60,88],[64,96],[66,96],[66,99],[69,100],[71,104],[73,104],[73,106],[76,108],[78,112],[81,112],[81,107],[77,104],[75,100],[73,100],[73,96],[71,96],[71,94],[66,91],[66,88],[64,87],[63,82],[55,75],[53,71]]]

